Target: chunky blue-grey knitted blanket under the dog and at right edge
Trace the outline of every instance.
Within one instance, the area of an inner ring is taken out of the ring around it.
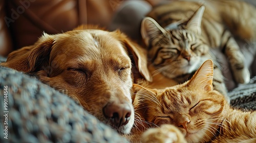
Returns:
[[[255,110],[256,77],[228,94],[232,106]],[[1,66],[0,95],[0,142],[127,142],[65,94]]]

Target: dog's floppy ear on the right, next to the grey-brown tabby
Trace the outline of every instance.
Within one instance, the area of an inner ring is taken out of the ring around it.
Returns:
[[[147,68],[147,54],[142,47],[137,43],[131,41],[125,34],[122,34],[119,30],[114,31],[119,35],[121,42],[125,45],[129,53],[133,55],[133,60],[139,70],[141,76],[143,76],[147,81],[152,81],[152,76]]]

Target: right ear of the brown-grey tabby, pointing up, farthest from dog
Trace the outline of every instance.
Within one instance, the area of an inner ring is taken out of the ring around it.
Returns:
[[[201,22],[204,14],[204,6],[201,6],[195,14],[188,20],[186,29],[196,32],[197,34],[201,34]]]

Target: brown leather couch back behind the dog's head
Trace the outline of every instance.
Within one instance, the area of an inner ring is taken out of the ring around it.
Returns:
[[[147,0],[155,5],[161,0]],[[2,0],[0,55],[33,44],[42,32],[56,34],[81,24],[109,27],[121,0]]]

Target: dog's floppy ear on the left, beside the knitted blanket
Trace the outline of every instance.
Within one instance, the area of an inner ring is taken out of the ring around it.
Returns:
[[[0,63],[0,65],[23,71],[24,73],[33,72],[36,67],[49,62],[48,59],[54,37],[54,35],[44,33],[34,45],[25,46],[10,53],[7,61]]]

